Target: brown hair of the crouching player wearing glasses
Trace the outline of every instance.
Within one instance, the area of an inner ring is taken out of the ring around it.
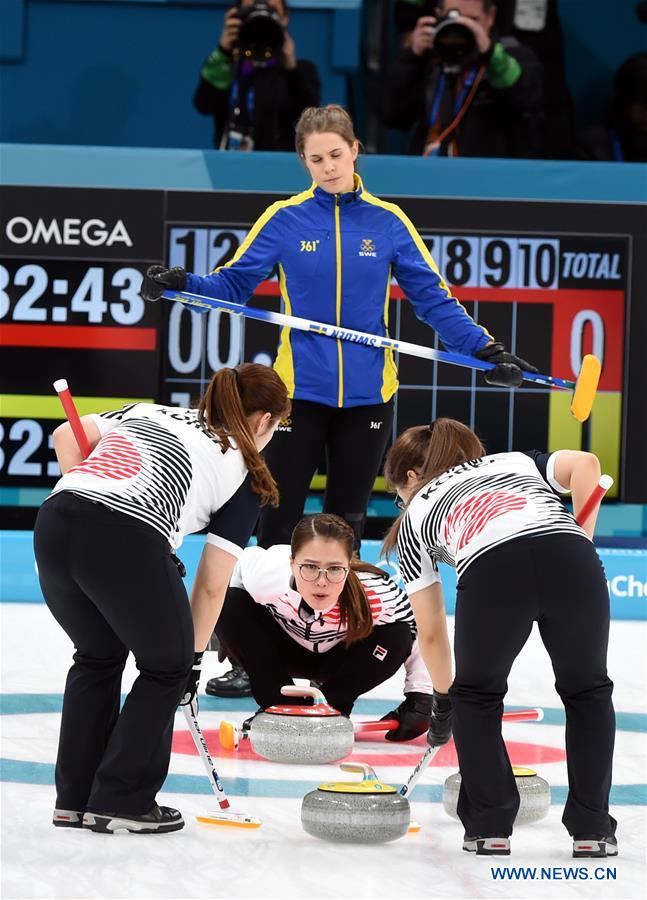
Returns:
[[[388,578],[383,569],[362,562],[353,557],[353,545],[355,533],[348,522],[340,516],[329,513],[316,513],[314,516],[304,516],[292,532],[290,546],[292,559],[299,550],[313,538],[323,538],[326,541],[339,541],[344,548],[346,556],[350,560],[350,571],[346,578],[343,590],[339,595],[340,627],[346,625],[346,646],[362,641],[373,631],[373,614],[368,602],[366,591],[362,582],[357,577],[357,572],[370,572],[381,578]]]

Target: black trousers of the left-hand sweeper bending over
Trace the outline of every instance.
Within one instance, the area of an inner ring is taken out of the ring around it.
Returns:
[[[193,664],[193,622],[168,542],[131,516],[63,492],[34,531],[40,583],[75,646],[63,699],[56,806],[149,812]],[[139,677],[119,711],[131,650]]]

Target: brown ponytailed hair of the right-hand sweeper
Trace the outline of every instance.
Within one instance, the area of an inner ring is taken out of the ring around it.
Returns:
[[[389,488],[397,490],[407,484],[407,472],[413,469],[418,474],[417,494],[447,469],[484,455],[485,447],[467,425],[457,419],[435,419],[431,425],[415,425],[402,432],[386,455],[384,477]],[[397,544],[403,515],[384,538],[382,552],[386,556]]]

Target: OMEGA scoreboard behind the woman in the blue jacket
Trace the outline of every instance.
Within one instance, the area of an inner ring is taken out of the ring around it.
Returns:
[[[198,315],[181,304],[144,303],[139,289],[152,263],[203,273],[227,262],[275,199],[0,188],[4,527],[33,520],[57,477],[51,432],[62,411],[51,387],[56,378],[69,381],[86,413],[132,400],[189,405],[221,366],[271,363],[275,326],[218,310]],[[531,383],[509,391],[487,385],[475,371],[402,356],[394,435],[449,415],[474,427],[491,452],[584,447],[602,458],[617,490],[625,449],[631,230],[609,228],[606,218],[593,214],[593,204],[389,199],[412,218],[454,295],[509,349],[541,372],[567,379],[576,376],[585,353],[595,353],[603,365],[593,414],[582,426],[569,414],[566,392]],[[250,302],[279,308],[275,273]],[[395,281],[389,331],[439,346]],[[630,489],[625,495],[632,499]]]

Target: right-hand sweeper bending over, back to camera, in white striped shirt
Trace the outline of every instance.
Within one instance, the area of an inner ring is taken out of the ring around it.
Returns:
[[[519,793],[501,714],[508,674],[536,621],[566,710],[569,791],[562,821],[573,856],[615,856],[609,592],[590,539],[596,516],[584,530],[557,495],[570,491],[577,515],[598,484],[597,457],[572,450],[489,456],[466,425],[436,419],[400,435],[384,473],[404,506],[385,549],[397,545],[434,683],[438,668],[449,672],[428,639],[433,634],[437,641],[438,561],[458,574],[449,695],[463,849],[510,853]]]

